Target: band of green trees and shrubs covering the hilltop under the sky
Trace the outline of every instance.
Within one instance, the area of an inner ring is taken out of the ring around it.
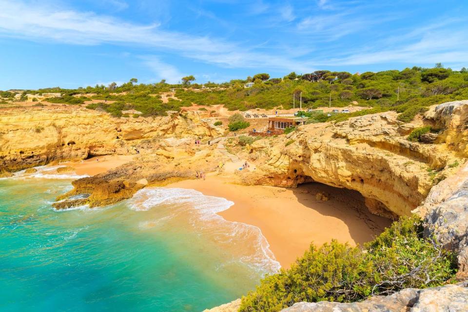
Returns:
[[[137,79],[117,86],[96,85],[95,87],[66,90],[49,88],[25,91],[31,94],[60,92],[61,98],[50,99],[52,102],[81,104],[88,94],[88,99],[107,99],[107,106],[91,105],[89,108],[104,109],[115,112],[125,109],[136,109],[143,116],[165,115],[167,111],[178,111],[183,106],[224,104],[230,110],[246,111],[255,108],[289,109],[296,107],[302,99],[303,108],[324,106],[345,107],[356,101],[360,106],[369,107],[351,114],[333,116],[314,116],[312,122],[326,120],[344,120],[352,116],[393,110],[399,119],[409,122],[416,114],[424,112],[428,106],[449,100],[468,98],[468,72],[465,68],[453,71],[438,63],[434,68],[413,67],[402,71],[389,70],[382,72],[365,72],[351,74],[347,72],[315,71],[310,74],[296,75],[291,73],[284,78],[270,78],[266,73],[257,74],[245,80],[235,79],[226,83],[205,83],[203,88],[193,76],[183,78],[180,85],[170,85],[161,80],[153,84],[137,84]],[[254,82],[251,88],[244,83]],[[163,103],[159,98],[162,92],[175,89],[175,100],[170,98]],[[1,92],[0,96],[11,99],[12,94]],[[24,99],[22,97],[22,99]],[[114,104],[111,101],[117,101]],[[123,101],[124,105],[121,105]]]

